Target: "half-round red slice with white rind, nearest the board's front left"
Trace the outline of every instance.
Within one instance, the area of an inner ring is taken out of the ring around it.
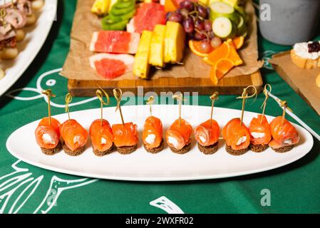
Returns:
[[[106,79],[122,76],[133,71],[135,57],[128,54],[98,53],[89,58],[91,68]]]

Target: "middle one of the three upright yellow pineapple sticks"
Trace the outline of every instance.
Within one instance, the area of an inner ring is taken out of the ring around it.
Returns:
[[[157,24],[153,29],[153,37],[150,43],[149,63],[153,66],[163,67],[165,52],[165,25]]]

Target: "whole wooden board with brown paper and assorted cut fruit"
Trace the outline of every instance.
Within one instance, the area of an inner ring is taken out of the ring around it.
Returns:
[[[72,95],[138,86],[159,92],[262,90],[251,1],[78,1],[61,75]]]

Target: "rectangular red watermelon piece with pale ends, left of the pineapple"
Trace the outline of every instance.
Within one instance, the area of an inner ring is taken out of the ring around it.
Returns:
[[[91,39],[90,51],[134,54],[138,50],[139,41],[140,33],[96,31]]]

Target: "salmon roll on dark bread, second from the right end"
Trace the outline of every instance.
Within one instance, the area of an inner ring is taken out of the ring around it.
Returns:
[[[250,150],[254,152],[262,152],[267,150],[268,144],[272,139],[270,125],[265,115],[258,115],[253,118],[249,125],[250,133]]]

